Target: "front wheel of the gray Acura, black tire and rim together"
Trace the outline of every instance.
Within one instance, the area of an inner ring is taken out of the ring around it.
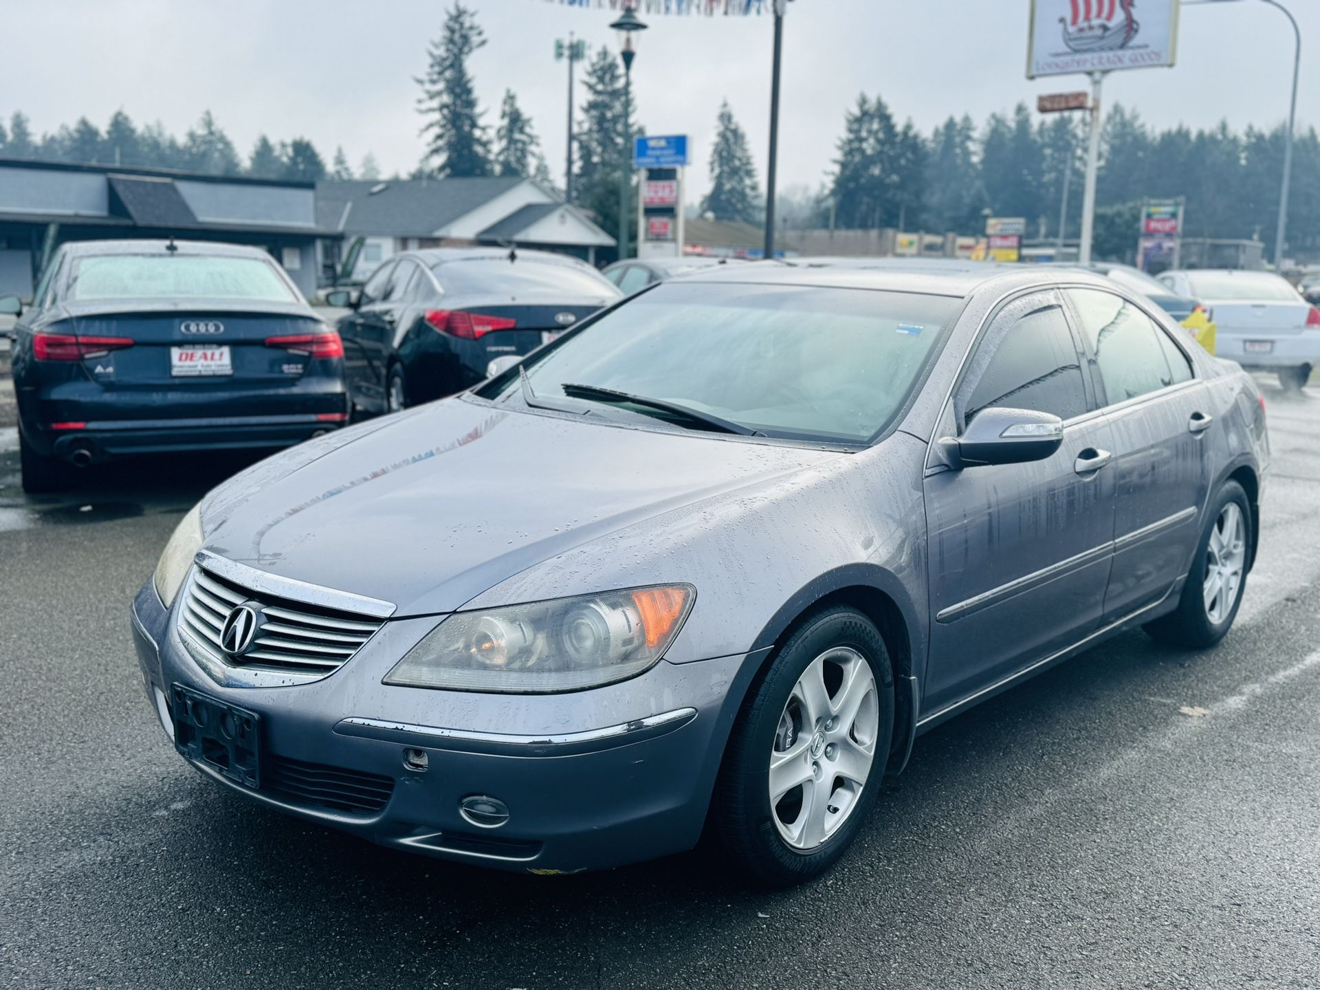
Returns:
[[[713,816],[731,863],[787,887],[843,855],[875,801],[894,738],[884,639],[853,609],[809,615],[752,684]]]

